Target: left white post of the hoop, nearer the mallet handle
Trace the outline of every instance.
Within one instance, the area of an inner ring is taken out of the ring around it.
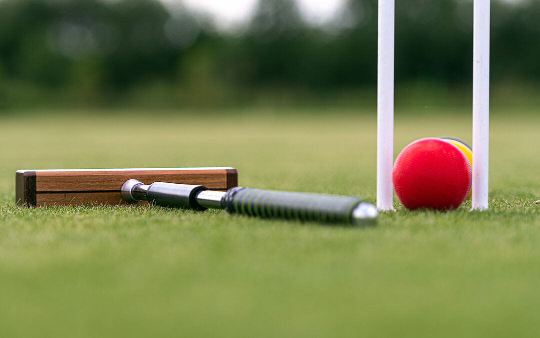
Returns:
[[[377,64],[377,208],[392,206],[394,163],[394,0],[379,0]]]

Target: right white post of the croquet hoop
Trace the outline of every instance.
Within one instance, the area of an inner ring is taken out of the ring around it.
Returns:
[[[490,0],[474,0],[473,210],[488,208]]]

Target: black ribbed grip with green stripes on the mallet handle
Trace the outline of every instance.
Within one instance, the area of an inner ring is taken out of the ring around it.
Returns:
[[[361,202],[362,200],[357,197],[238,187],[227,191],[221,200],[221,207],[230,214],[325,223],[352,223],[353,210]]]

